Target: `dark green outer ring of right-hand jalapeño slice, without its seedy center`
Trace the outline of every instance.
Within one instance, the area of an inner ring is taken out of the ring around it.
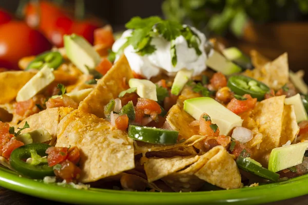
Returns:
[[[266,90],[261,88],[264,92],[256,92],[256,91],[248,90],[248,89],[245,89],[245,88],[241,88],[239,85],[236,84],[237,79],[243,80],[246,83],[248,83],[248,81],[256,81],[257,86],[259,88],[260,88],[260,85],[261,85],[263,88],[266,88]],[[257,98],[258,101],[264,99],[265,93],[269,91],[269,88],[265,84],[263,84],[262,82],[254,79],[254,78],[243,76],[243,75],[230,76],[229,79],[228,79],[227,87],[229,87],[237,95],[250,94],[252,97]]]

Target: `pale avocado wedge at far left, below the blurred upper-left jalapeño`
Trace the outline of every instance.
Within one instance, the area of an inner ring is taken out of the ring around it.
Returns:
[[[51,84],[55,78],[52,71],[53,69],[45,65],[17,93],[16,101],[20,102],[28,100],[44,90],[44,88]]]

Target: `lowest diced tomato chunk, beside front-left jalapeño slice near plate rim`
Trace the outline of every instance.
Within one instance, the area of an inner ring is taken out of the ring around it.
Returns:
[[[81,169],[74,165],[73,162],[66,159],[60,165],[60,169],[54,169],[53,171],[55,176],[65,179],[66,182],[71,182],[73,179],[80,177]]]

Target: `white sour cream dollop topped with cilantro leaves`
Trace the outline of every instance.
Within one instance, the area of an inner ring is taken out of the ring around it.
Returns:
[[[194,48],[189,48],[184,36],[180,35],[175,39],[177,65],[174,67],[171,63],[170,42],[160,35],[153,37],[151,40],[151,45],[156,48],[156,51],[151,54],[141,56],[136,53],[131,45],[124,49],[124,54],[131,69],[147,79],[157,76],[161,72],[165,72],[168,75],[175,75],[176,72],[182,69],[193,70],[193,75],[199,75],[206,69],[206,37],[194,27],[191,27],[191,30],[200,38],[198,44],[201,55],[198,55]],[[131,32],[132,30],[126,30],[122,36],[115,41],[112,46],[113,52],[117,53],[119,51],[119,49],[126,43],[127,37],[131,35]],[[119,56],[116,57],[116,60],[118,58]]]

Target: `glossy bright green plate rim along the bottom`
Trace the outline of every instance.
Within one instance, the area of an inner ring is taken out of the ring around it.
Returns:
[[[44,199],[74,204],[256,204],[308,194],[308,175],[253,188],[188,193],[76,190],[18,176],[0,167],[0,186]]]

